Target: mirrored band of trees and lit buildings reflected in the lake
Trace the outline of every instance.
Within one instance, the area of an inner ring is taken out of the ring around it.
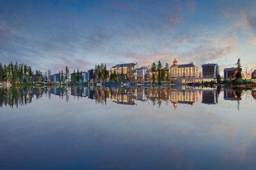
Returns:
[[[147,102],[160,107],[162,104],[172,104],[176,109],[179,104],[193,106],[199,101],[202,104],[216,105],[219,103],[219,95],[223,92],[223,98],[227,101],[237,101],[238,109],[242,96],[245,100],[256,99],[256,88],[250,90],[237,89],[211,89],[194,88],[189,86],[180,87],[23,87],[23,88],[0,88],[0,105],[5,106],[24,106],[32,102],[32,99],[40,99],[44,94],[51,99],[51,95],[58,95],[60,99],[70,100],[70,95],[74,99],[89,98],[95,100],[96,104],[106,105],[107,99],[116,104],[138,105],[140,102]]]

